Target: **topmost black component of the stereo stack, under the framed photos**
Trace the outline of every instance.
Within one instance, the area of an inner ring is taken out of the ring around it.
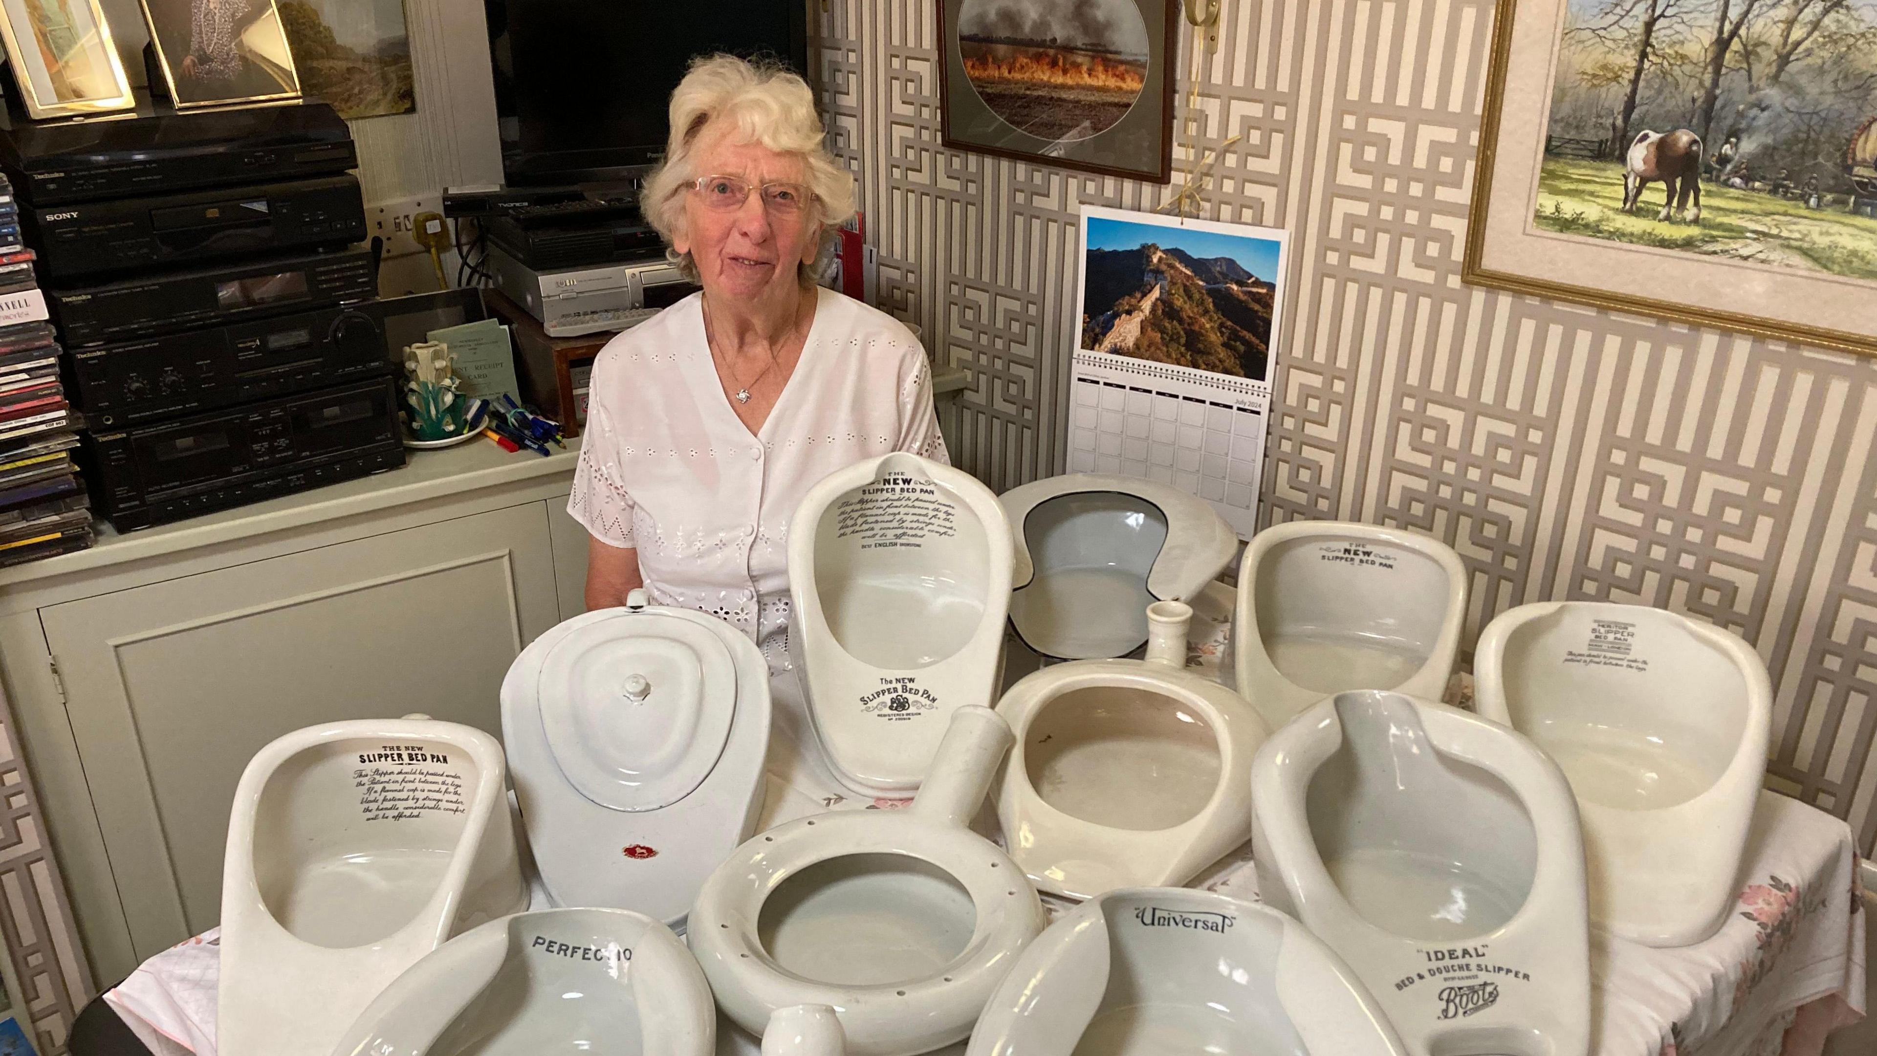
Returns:
[[[300,180],[357,167],[351,130],[327,103],[105,120],[26,122],[0,113],[0,167],[32,205]]]

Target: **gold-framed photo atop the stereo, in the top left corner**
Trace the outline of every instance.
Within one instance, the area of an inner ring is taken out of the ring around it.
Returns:
[[[135,105],[98,0],[0,0],[0,36],[26,116]]]

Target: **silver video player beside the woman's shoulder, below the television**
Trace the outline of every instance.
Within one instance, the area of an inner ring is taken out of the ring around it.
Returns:
[[[642,321],[646,312],[668,308],[698,289],[663,257],[541,272],[492,248],[488,263],[496,287],[557,338],[623,331]]]

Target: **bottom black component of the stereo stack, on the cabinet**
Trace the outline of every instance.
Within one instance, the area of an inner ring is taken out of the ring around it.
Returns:
[[[92,498],[118,532],[404,464],[390,378],[84,438]]]

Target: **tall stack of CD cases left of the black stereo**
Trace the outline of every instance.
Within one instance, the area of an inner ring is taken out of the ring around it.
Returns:
[[[66,400],[58,340],[32,261],[13,188],[0,179],[0,567],[94,541],[90,500],[71,458],[83,423]]]

